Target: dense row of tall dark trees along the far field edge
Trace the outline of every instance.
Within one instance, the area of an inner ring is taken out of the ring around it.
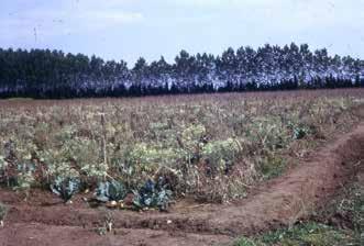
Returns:
[[[307,44],[229,47],[221,55],[181,51],[132,68],[124,60],[49,49],[0,48],[0,98],[140,97],[177,93],[364,87],[364,60],[311,52]]]

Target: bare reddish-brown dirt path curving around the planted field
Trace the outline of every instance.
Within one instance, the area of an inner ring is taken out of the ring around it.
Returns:
[[[88,208],[81,197],[64,205],[49,193],[34,191],[25,203],[0,190],[1,200],[11,206],[5,227],[0,228],[0,246],[228,245],[234,236],[289,225],[309,215],[334,195],[363,160],[364,123],[239,203],[170,213],[110,211],[115,230],[106,236],[95,232],[106,212]]]

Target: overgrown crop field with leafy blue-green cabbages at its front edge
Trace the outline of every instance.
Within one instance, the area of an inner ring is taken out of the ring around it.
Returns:
[[[2,100],[1,190],[67,208],[80,194],[112,211],[225,208],[351,131],[363,107],[363,89]]]

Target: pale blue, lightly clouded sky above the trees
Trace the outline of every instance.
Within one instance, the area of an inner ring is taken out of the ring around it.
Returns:
[[[307,43],[364,58],[364,0],[1,0],[1,48],[167,62],[228,47]]]

